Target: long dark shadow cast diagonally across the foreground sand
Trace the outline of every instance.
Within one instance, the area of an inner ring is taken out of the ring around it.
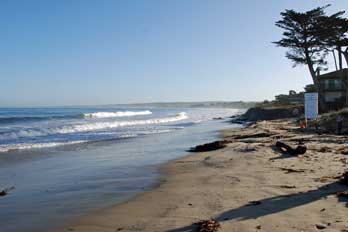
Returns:
[[[248,220],[255,219],[262,216],[279,213],[291,208],[306,205],[308,203],[326,198],[329,195],[335,194],[338,191],[347,190],[347,186],[334,182],[321,186],[318,189],[307,192],[299,192],[289,195],[281,195],[276,197],[265,198],[259,200],[261,204],[251,205],[246,204],[239,208],[231,209],[223,212],[215,218],[215,220],[222,222],[228,220]],[[255,200],[255,199],[251,199]],[[347,198],[338,198],[340,202],[347,201]],[[181,228],[169,230],[168,232],[188,232],[193,231],[194,225],[189,225]]]

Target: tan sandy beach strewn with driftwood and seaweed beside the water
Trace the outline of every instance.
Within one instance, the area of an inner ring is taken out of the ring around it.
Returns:
[[[250,137],[255,133],[264,137]],[[341,154],[346,137],[304,133],[289,120],[227,130],[224,136],[231,141],[224,149],[165,165],[153,191],[59,231],[183,232],[210,218],[221,223],[219,231],[229,232],[348,231],[346,200],[335,195],[348,190],[337,179],[347,169],[348,155]],[[296,145],[299,139],[308,150],[298,157],[273,147],[277,140]]]

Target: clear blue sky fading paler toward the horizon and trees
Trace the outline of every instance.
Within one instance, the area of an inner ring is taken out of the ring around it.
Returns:
[[[347,0],[2,0],[0,106],[264,100],[302,90],[274,22]],[[347,16],[347,14],[346,14]]]

